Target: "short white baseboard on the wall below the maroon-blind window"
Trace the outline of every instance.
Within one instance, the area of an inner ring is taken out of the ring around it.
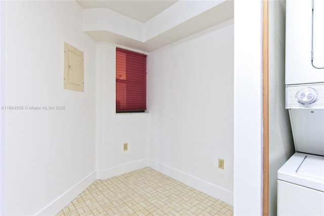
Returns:
[[[148,160],[137,160],[131,163],[113,166],[107,169],[97,169],[97,179],[108,179],[114,176],[119,176],[126,174],[127,172],[134,171],[136,169],[141,169],[148,166]]]

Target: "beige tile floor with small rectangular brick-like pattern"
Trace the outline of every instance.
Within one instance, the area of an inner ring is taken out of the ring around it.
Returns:
[[[233,207],[146,167],[95,181],[57,215],[233,215]]]

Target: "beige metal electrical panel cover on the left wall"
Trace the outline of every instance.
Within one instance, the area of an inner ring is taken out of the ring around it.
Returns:
[[[64,42],[64,89],[84,91],[84,54]]]

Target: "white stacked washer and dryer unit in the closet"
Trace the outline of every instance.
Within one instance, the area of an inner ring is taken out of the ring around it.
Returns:
[[[286,109],[296,153],[278,170],[278,215],[324,215],[324,1],[286,1]]]

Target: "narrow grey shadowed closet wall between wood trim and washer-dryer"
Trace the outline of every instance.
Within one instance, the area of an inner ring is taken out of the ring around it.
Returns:
[[[269,1],[269,215],[277,210],[277,170],[295,152],[285,109],[286,1]]]

